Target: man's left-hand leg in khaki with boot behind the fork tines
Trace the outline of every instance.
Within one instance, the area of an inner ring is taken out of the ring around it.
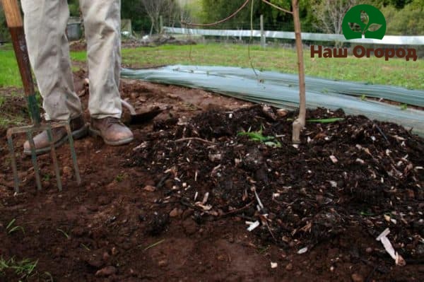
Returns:
[[[25,37],[30,63],[43,98],[46,120],[71,120],[75,138],[87,133],[81,102],[73,89],[66,25],[69,9],[66,0],[22,0]],[[66,130],[53,130],[56,146],[66,141]],[[34,138],[37,153],[49,151],[47,132]],[[30,154],[25,142],[24,153]]]

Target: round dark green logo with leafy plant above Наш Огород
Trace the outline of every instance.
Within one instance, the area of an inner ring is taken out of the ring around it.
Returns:
[[[352,7],[341,24],[347,40],[362,38],[383,39],[386,34],[386,18],[375,6],[362,4]]]

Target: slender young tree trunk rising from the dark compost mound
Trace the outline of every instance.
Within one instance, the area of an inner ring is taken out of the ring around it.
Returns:
[[[306,94],[305,94],[305,63],[303,61],[302,29],[300,27],[299,0],[292,0],[293,21],[295,23],[296,52],[298,53],[299,71],[299,116],[293,122],[292,141],[300,143],[300,132],[305,127]]]

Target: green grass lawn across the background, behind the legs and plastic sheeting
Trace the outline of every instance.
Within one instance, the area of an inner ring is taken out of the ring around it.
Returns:
[[[75,61],[86,61],[86,52],[72,52]],[[250,47],[255,68],[296,73],[294,49]],[[21,86],[16,60],[10,45],[0,47],[0,87]],[[143,67],[165,64],[199,64],[250,67],[249,49],[245,45],[208,44],[193,46],[164,45],[122,49],[124,66]],[[424,61],[348,57],[343,59],[311,58],[305,49],[306,74],[346,81],[363,81],[413,89],[424,89]]]

